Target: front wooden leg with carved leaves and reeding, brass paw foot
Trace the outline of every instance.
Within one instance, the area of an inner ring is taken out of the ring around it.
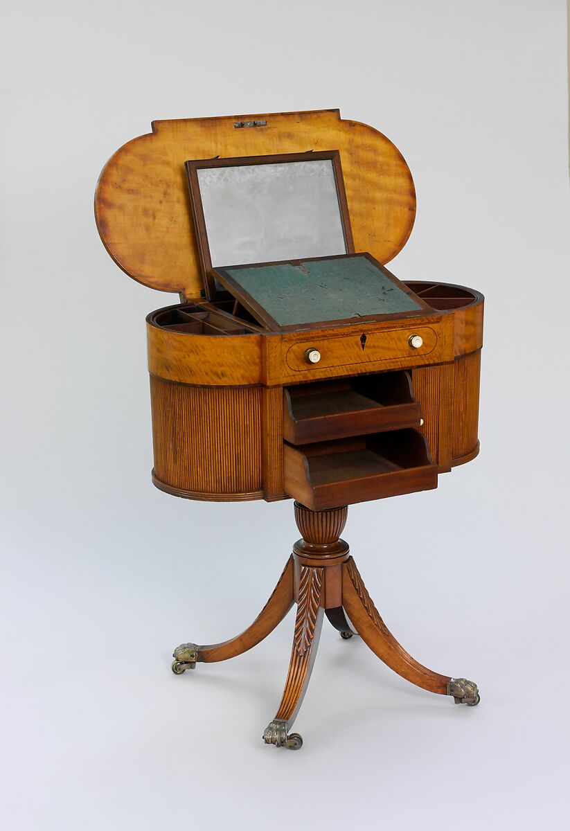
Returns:
[[[268,745],[288,747],[291,750],[298,750],[302,746],[301,736],[298,733],[288,735],[288,730],[302,704],[317,655],[324,611],[321,607],[323,587],[324,568],[301,567],[289,671],[277,714],[263,733],[263,740]]]

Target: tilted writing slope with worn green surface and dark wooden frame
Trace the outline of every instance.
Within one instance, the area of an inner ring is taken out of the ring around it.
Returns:
[[[217,271],[230,278],[230,291],[239,297],[242,289],[279,327],[422,308],[364,254]]]

